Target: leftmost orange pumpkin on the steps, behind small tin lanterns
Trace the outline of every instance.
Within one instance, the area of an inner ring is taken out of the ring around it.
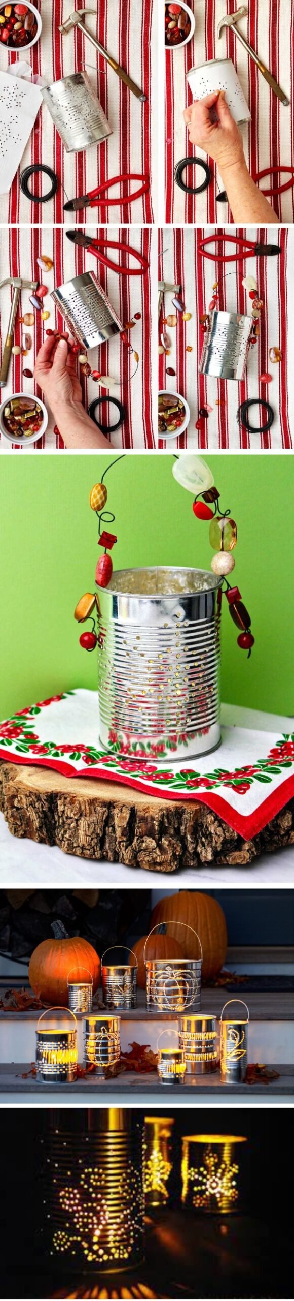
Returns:
[[[82,935],[69,938],[61,922],[53,922],[52,939],[44,939],[34,950],[28,967],[28,981],[34,994],[51,1007],[67,1007],[67,976],[87,980],[85,968],[93,978],[93,994],[100,982],[100,958]],[[56,935],[56,938],[54,938]]]

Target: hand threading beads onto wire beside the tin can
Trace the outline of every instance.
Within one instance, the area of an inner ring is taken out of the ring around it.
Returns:
[[[58,342],[54,334],[47,336],[38,353],[34,376],[57,423],[60,411],[63,412],[69,406],[84,411],[75,354],[70,350],[69,336]]]

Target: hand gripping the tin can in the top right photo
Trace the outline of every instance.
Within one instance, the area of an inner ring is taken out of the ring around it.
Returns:
[[[212,114],[211,109],[215,109]],[[211,117],[216,116],[218,121],[211,121]],[[198,144],[205,154],[209,154],[218,163],[220,173],[236,163],[245,161],[242,138],[237,122],[229,112],[223,90],[216,91],[215,95],[206,95],[205,99],[194,100],[189,108],[185,108],[184,120],[189,127],[192,144]]]

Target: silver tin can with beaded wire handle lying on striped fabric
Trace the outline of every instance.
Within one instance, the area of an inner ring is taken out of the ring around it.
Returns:
[[[210,312],[199,375],[212,375],[218,380],[243,380],[254,329],[254,316],[219,312],[218,308]]]

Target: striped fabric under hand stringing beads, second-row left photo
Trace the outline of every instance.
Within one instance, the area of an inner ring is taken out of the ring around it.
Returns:
[[[88,228],[88,233],[93,238],[97,238],[97,235],[107,238],[107,228],[105,229],[105,226],[100,226],[98,229],[96,226],[93,229]],[[135,312],[141,314],[140,320],[136,321],[136,325],[130,332],[130,342],[140,358],[137,373],[133,379],[131,376],[136,371],[136,362],[122,343],[119,336],[115,336],[107,343],[102,343],[98,349],[92,349],[88,359],[92,369],[100,369],[102,375],[113,376],[115,386],[111,386],[109,393],[119,398],[126,407],[124,424],[111,436],[111,446],[153,448],[150,285],[152,280],[157,285],[157,234],[150,226],[145,229],[120,226],[119,232],[111,229],[110,237],[111,239],[122,238],[124,243],[142,252],[150,263],[149,271],[144,276],[118,276],[117,272],[107,271],[97,263],[97,258],[93,254],[70,243],[66,239],[65,230],[60,226],[47,226],[47,229],[32,226],[31,230],[19,228],[9,230],[9,228],[3,228],[0,280],[5,276],[21,276],[23,280],[40,278],[52,290],[65,284],[65,281],[71,280],[73,276],[79,276],[83,271],[95,271],[123,324],[130,321]],[[51,272],[41,272],[38,267],[36,259],[40,254],[45,254],[53,259],[53,269]],[[114,250],[110,250],[110,258],[114,262],[118,260]],[[133,265],[133,262],[131,262],[131,265]],[[12,290],[6,285],[1,289],[1,353],[9,319],[10,298]],[[43,342],[44,330],[48,327],[54,329],[56,325],[60,325],[61,329],[65,329],[65,323],[61,315],[56,312],[49,294],[43,301],[43,307],[51,312],[49,320],[43,323],[40,312],[35,311],[35,325],[30,328],[32,349],[25,359],[19,355],[12,358],[8,385],[5,394],[3,390],[1,401],[4,396],[10,397],[13,393],[19,392],[32,393],[35,390],[41,397],[41,392],[34,385],[34,380],[22,379],[23,366],[31,371],[34,369],[34,362]],[[27,311],[34,311],[34,308],[30,304],[30,290],[23,290],[21,294],[19,316],[23,316]],[[17,343],[21,342],[23,329],[23,325],[16,324],[14,340]],[[83,402],[85,409],[100,393],[105,394],[106,389],[100,389],[98,384],[91,379],[83,379]],[[105,423],[110,423],[111,420],[114,423],[113,410],[110,409],[107,422],[107,407],[105,407]],[[44,438],[38,444],[28,445],[25,449],[27,454],[39,451],[43,446],[45,446],[45,450],[57,450],[58,446],[63,446],[58,436],[53,433],[53,425],[54,420],[49,414],[49,424]],[[10,444],[1,437],[0,448],[6,451],[10,449]]]

